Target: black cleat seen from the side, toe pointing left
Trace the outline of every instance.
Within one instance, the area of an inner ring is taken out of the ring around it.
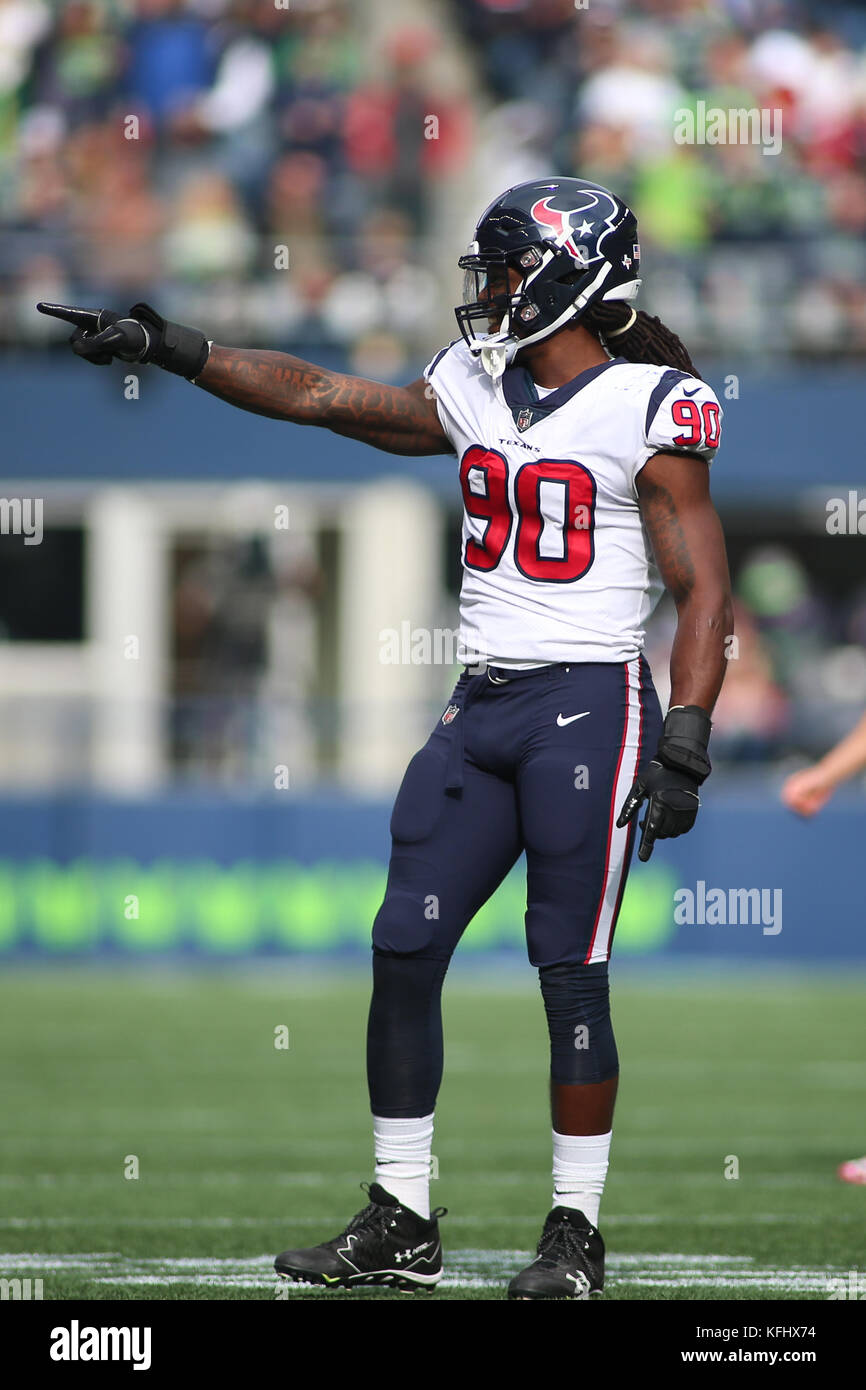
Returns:
[[[313,1250],[284,1250],[274,1261],[277,1273],[295,1283],[334,1289],[435,1289],[442,1277],[439,1216],[445,1216],[445,1207],[436,1207],[424,1220],[378,1183],[361,1187],[370,1204],[346,1229]]]

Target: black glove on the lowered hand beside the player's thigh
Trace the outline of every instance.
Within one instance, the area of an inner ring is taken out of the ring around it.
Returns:
[[[698,705],[667,712],[656,756],[635,780],[617,817],[621,830],[649,798],[638,847],[642,863],[649,859],[656,840],[684,835],[695,824],[701,806],[698,787],[712,771],[706,752],[712,727],[709,714]]]

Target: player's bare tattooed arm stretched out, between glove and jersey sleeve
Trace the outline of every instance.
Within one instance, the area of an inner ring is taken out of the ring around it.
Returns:
[[[288,353],[214,345],[196,385],[240,410],[324,425],[388,453],[453,453],[424,381],[388,386]]]

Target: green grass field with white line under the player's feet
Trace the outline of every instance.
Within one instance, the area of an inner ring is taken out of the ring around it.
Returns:
[[[46,1300],[272,1300],[274,1254],[335,1236],[366,1202],[367,990],[363,970],[291,962],[7,970],[0,1276],[42,1279]],[[613,1002],[605,1298],[826,1300],[834,1277],[866,1279],[866,1188],[835,1177],[866,1151],[863,980],[632,970],[614,973]],[[550,1205],[535,973],[455,970],[445,1023],[434,1297],[496,1300]]]

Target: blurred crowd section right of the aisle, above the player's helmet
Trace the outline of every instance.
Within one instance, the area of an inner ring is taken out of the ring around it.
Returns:
[[[626,197],[652,270],[642,297],[689,346],[866,350],[862,3],[453,7],[496,103],[488,126],[503,185],[541,161]],[[677,143],[677,113],[696,115],[699,103],[781,113],[780,152]]]

